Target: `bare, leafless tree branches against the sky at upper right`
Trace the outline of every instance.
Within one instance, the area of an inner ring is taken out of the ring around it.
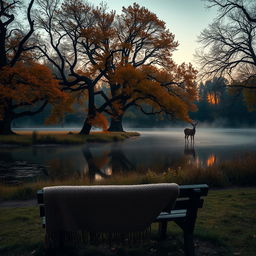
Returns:
[[[196,57],[201,65],[201,77],[226,76],[237,79],[243,65],[256,66],[256,3],[245,0],[206,0],[209,7],[219,9],[218,21],[202,31],[202,49]],[[247,4],[247,5],[246,5]],[[225,19],[224,19],[225,18]],[[230,80],[230,81],[231,81]]]

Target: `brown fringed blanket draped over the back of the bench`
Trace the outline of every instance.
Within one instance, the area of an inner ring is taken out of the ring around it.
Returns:
[[[140,232],[178,193],[174,183],[45,187],[46,232]]]

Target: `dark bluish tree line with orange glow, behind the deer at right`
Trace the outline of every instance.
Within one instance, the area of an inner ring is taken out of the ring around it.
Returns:
[[[201,83],[198,111],[191,117],[200,123],[215,126],[239,127],[255,125],[256,112],[249,111],[242,88],[230,88],[224,78]]]

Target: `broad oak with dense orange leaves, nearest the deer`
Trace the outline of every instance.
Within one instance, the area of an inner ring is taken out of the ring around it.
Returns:
[[[94,13],[95,26],[90,33],[84,31],[84,38],[92,41],[94,35],[101,35],[96,40],[104,56],[110,56],[103,62],[110,95],[101,92],[107,102],[112,100],[105,108],[112,113],[109,130],[123,130],[122,118],[131,106],[145,114],[165,113],[188,121],[188,111],[194,109],[196,71],[191,65],[174,63],[172,53],[178,43],[165,23],[138,4],[123,7],[115,17],[104,5]]]

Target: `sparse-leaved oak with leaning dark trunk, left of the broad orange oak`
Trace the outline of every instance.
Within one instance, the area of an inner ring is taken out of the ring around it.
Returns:
[[[57,71],[62,90],[86,93],[87,113],[80,133],[89,134],[93,125],[105,127],[106,119],[97,111],[95,95],[107,67],[102,66],[104,56],[97,40],[83,37],[84,31],[95,25],[93,7],[74,0],[38,0],[38,4],[35,17],[42,36],[35,48]]]

